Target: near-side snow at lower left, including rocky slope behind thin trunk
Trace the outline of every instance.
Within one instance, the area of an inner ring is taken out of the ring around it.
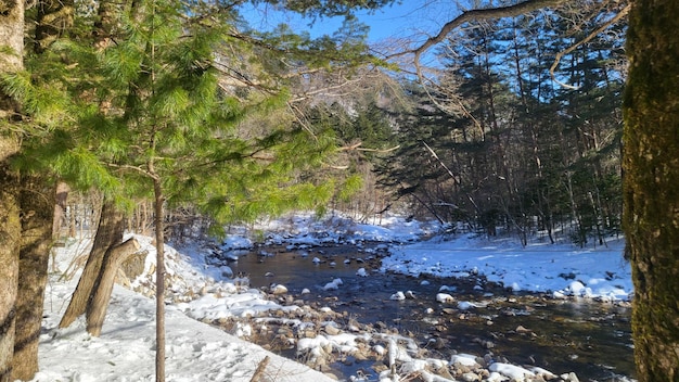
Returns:
[[[146,253],[145,270],[132,280],[140,292],[149,292],[155,267],[155,250],[151,239],[137,237]],[[76,242],[56,253],[59,271],[71,264]],[[219,311],[228,306],[249,311],[276,308],[277,304],[262,298],[259,291],[235,293],[233,283],[215,280],[220,270],[206,269],[200,252],[193,256],[167,247],[169,289],[177,296],[190,294],[221,295]],[[57,329],[68,304],[77,277],[71,281],[51,277],[46,291],[43,330],[40,335],[40,371],[33,382],[137,382],[155,380],[155,301],[115,285],[100,338],[85,330],[85,318],[79,317],[69,328]],[[213,275],[213,276],[210,276]],[[202,291],[201,291],[202,290]],[[197,291],[197,292],[196,292]],[[258,310],[257,310],[258,309]],[[166,374],[167,381],[251,381],[259,362],[269,357],[262,380],[332,381],[293,360],[266,352],[222,330],[189,318],[176,305],[166,307]]]

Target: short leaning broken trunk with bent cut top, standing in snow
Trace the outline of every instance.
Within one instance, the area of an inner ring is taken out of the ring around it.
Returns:
[[[87,331],[91,335],[99,336],[101,334],[118,267],[140,247],[139,242],[132,238],[120,245],[112,246],[106,252],[93,296],[87,305]]]

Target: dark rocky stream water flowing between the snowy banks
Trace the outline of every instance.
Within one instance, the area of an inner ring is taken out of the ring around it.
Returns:
[[[633,378],[630,308],[626,304],[517,295],[476,277],[381,273],[376,271],[379,255],[359,251],[355,246],[266,247],[242,256],[230,267],[249,275],[254,288],[283,284],[295,298],[346,311],[360,322],[410,333],[444,359],[454,352],[481,356],[492,352],[510,362],[540,366],[556,374],[575,371],[580,381]],[[315,264],[315,257],[322,263]],[[364,268],[368,277],[358,276],[359,268]],[[335,278],[344,283],[337,290],[324,290]],[[479,307],[463,310],[457,303],[437,303],[435,296],[441,285],[451,286],[453,291],[446,293],[458,302]],[[304,289],[311,293],[300,295]],[[390,300],[397,291],[412,291],[417,298]],[[350,374],[370,364],[338,367]]]

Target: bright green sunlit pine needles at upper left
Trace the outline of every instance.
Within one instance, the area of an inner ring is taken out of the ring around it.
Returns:
[[[363,25],[348,18],[332,37],[310,39],[284,26],[244,29],[233,11],[208,4],[114,11],[113,43],[95,46],[93,13],[77,14],[71,38],[2,78],[33,120],[17,167],[123,204],[151,198],[161,179],[170,207],[196,206],[219,222],[318,209],[359,187],[355,177],[308,176],[332,162],[337,141],[330,129],[292,124],[285,110],[295,71],[373,60]]]

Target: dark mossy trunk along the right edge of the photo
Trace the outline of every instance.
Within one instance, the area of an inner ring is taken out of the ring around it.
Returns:
[[[678,29],[679,1],[632,2],[624,102],[624,227],[641,382],[679,380]]]

